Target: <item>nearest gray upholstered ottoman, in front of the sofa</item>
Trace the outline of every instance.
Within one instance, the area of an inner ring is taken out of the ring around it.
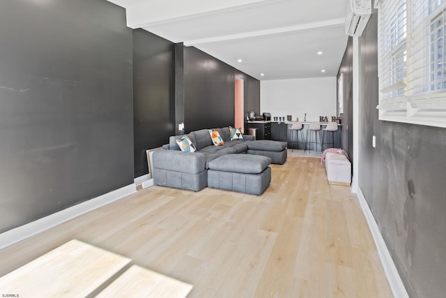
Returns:
[[[225,154],[208,163],[208,187],[261,195],[271,183],[271,159]]]

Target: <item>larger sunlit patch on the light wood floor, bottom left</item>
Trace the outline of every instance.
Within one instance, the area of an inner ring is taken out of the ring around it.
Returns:
[[[2,276],[0,292],[2,297],[86,297],[129,263],[129,258],[74,239]]]

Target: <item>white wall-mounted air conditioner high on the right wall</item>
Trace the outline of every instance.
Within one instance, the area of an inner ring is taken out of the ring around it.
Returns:
[[[371,15],[371,0],[348,0],[346,33],[361,36]]]

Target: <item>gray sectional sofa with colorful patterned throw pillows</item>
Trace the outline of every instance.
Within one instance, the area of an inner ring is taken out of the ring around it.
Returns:
[[[208,129],[193,131],[187,134],[195,145],[195,152],[183,152],[176,140],[183,135],[169,137],[169,144],[162,150],[153,153],[153,182],[158,186],[169,186],[192,191],[199,191],[208,186],[208,170],[210,161],[226,154],[246,154],[249,144],[255,141],[252,135],[243,135],[243,140],[232,140],[229,127],[215,128],[222,137],[224,144],[215,146]],[[270,141],[274,142],[274,141]],[[281,158],[275,158],[279,163],[286,161],[286,143],[277,142],[280,152],[275,152]],[[256,147],[259,149],[259,147]],[[253,152],[253,154],[256,154]],[[266,154],[258,154],[266,155]],[[268,156],[268,155],[267,155]],[[269,183],[268,183],[269,184]]]

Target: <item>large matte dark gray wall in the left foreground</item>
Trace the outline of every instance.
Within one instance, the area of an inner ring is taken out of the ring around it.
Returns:
[[[133,182],[132,31],[103,0],[0,3],[0,232]]]

